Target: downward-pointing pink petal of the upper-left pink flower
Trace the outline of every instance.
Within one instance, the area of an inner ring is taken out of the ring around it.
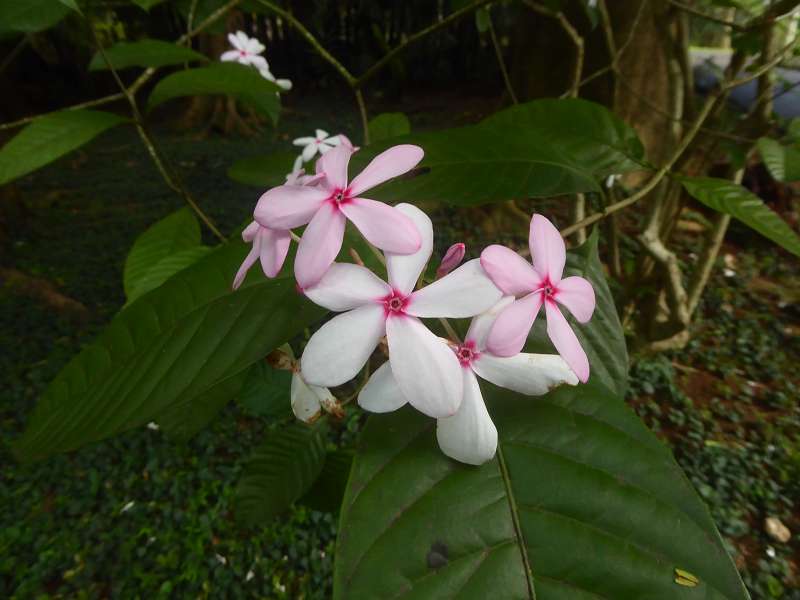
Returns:
[[[315,285],[325,275],[342,249],[346,222],[342,212],[331,203],[323,204],[311,219],[294,259],[294,276],[301,288]]]

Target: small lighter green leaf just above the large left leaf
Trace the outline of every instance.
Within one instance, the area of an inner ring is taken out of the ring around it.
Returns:
[[[148,227],[136,238],[125,259],[122,280],[128,302],[132,302],[144,293],[137,293],[137,288],[146,283],[148,273],[160,261],[174,258],[179,252],[193,250],[199,246],[200,223],[189,208],[182,208]],[[184,266],[187,264],[189,263]],[[176,272],[177,269],[167,274],[161,283]]]

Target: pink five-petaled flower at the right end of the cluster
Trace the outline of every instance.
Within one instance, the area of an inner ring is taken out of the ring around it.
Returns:
[[[533,321],[544,304],[547,335],[582,382],[589,379],[589,360],[558,304],[586,323],[594,312],[594,290],[583,277],[561,278],[566,262],[564,240],[542,215],[531,219],[528,244],[533,266],[505,246],[489,246],[481,253],[481,264],[505,294],[520,297],[497,317],[489,333],[487,348],[497,356],[513,356],[525,345]]]

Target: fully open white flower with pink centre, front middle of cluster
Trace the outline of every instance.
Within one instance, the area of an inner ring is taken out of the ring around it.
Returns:
[[[419,317],[471,317],[493,306],[501,293],[477,259],[414,291],[433,249],[433,226],[410,204],[397,210],[413,220],[422,244],[414,254],[386,253],[389,283],[365,267],[334,263],[317,285],[306,289],[320,306],[347,312],[311,336],[300,361],[303,376],[313,385],[341,385],[358,374],[385,335],[403,395],[426,415],[450,416],[463,395],[461,367]]]

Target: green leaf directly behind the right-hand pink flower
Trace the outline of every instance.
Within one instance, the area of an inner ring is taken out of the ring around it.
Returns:
[[[614,297],[608,287],[603,263],[600,262],[598,241],[598,229],[595,228],[585,243],[567,252],[565,267],[565,275],[580,275],[591,282],[596,300],[592,319],[588,323],[578,323],[569,315],[569,311],[564,310],[563,313],[589,358],[591,380],[602,383],[618,396],[624,397],[628,388],[628,350]],[[556,351],[547,336],[546,319],[536,320],[525,350],[546,354]]]

